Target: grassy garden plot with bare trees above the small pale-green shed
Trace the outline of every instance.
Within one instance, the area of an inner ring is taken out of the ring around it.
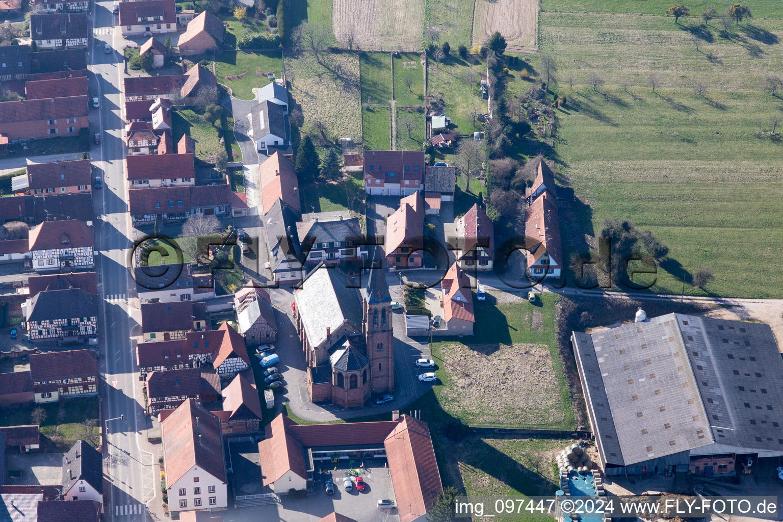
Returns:
[[[427,67],[427,92],[435,98],[442,97],[443,106],[439,109],[451,117],[452,128],[456,126],[464,135],[482,130],[478,122],[474,126],[470,110],[471,107],[478,113],[489,110],[480,88],[485,63],[481,59],[468,63],[452,53],[444,63],[428,60]]]

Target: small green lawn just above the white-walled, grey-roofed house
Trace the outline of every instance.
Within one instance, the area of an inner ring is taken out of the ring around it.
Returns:
[[[266,73],[276,78],[283,75],[283,57],[280,51],[224,51],[215,56],[215,73],[218,83],[231,89],[234,97],[253,99],[253,88],[269,83]],[[247,73],[247,74],[245,74]],[[228,80],[226,76],[244,77]]]

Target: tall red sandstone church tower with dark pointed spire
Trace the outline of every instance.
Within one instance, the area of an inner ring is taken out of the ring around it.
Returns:
[[[383,269],[370,269],[362,297],[372,390],[390,394],[394,392],[394,318]]]

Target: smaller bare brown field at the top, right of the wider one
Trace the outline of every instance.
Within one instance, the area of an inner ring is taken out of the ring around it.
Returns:
[[[538,0],[476,0],[473,44],[484,43],[500,31],[507,50],[535,52],[538,49]]]

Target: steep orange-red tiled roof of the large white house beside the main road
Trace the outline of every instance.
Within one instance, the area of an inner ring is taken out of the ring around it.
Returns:
[[[166,488],[193,466],[226,483],[220,419],[204,406],[194,399],[183,402],[161,422],[161,434]]]

